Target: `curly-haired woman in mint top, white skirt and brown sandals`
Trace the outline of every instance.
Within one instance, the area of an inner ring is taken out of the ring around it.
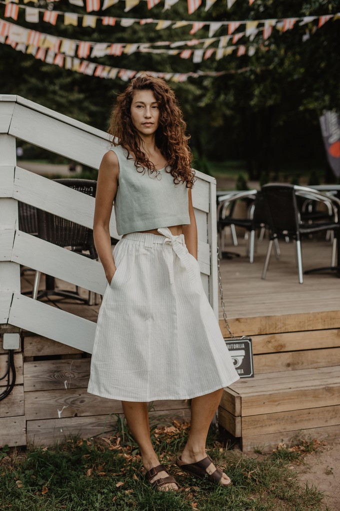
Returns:
[[[191,399],[190,434],[176,463],[229,485],[205,444],[223,387],[238,375],[202,286],[191,153],[174,92],[160,78],[133,79],[109,133],[114,147],[100,166],[93,224],[107,287],[88,392],[122,401],[145,475],[165,491],[178,486],[152,446],[148,402]],[[113,200],[123,237],[112,253]]]

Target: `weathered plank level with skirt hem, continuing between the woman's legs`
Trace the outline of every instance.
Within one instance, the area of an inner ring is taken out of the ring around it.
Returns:
[[[25,392],[25,406],[27,420],[123,413],[121,401],[94,396],[86,388]],[[179,409],[189,409],[188,400],[152,403],[155,414]]]

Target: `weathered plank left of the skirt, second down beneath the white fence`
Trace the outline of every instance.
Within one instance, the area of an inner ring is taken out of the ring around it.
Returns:
[[[87,387],[90,363],[89,358],[25,362],[25,392]]]

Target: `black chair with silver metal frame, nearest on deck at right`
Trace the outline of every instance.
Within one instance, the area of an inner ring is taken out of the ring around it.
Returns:
[[[263,267],[262,278],[265,278],[269,265],[274,240],[280,236],[296,241],[299,282],[303,283],[301,239],[304,235],[331,230],[335,234],[332,250],[332,267],[335,266],[335,253],[339,233],[337,207],[332,207],[333,215],[328,221],[313,221],[304,223],[298,208],[297,196],[329,203],[332,199],[307,187],[297,187],[292,184],[265,184],[262,194],[268,208],[270,242]]]

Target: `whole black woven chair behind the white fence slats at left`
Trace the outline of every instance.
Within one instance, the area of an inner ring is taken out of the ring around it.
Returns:
[[[95,197],[97,182],[94,180],[63,178],[54,179],[54,181],[90,195],[91,197]],[[43,210],[36,209],[36,214],[37,235],[39,238],[60,247],[70,247],[72,251],[82,254],[85,257],[98,259],[98,254],[94,246],[92,229]],[[78,286],[76,287],[76,291],[56,290],[54,289],[54,278],[50,275],[46,275],[46,289],[38,291],[40,276],[41,272],[36,271],[32,294],[34,299],[56,295],[63,298],[77,299],[85,304],[92,305],[91,291],[89,291],[89,297],[87,299],[79,295]]]

